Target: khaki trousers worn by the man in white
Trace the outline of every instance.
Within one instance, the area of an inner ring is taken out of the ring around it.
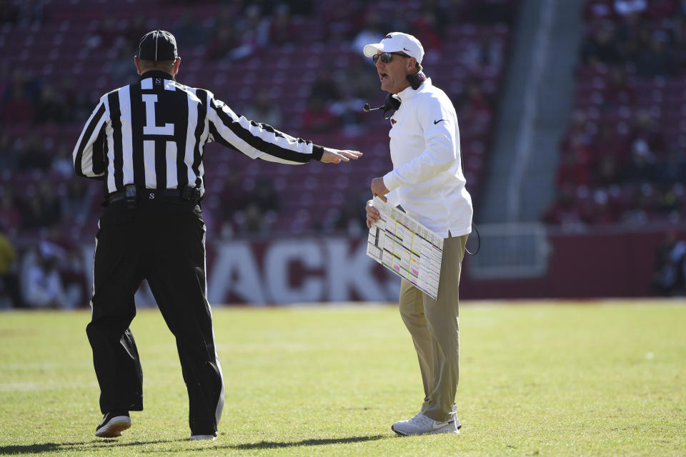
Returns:
[[[424,383],[422,413],[447,421],[454,412],[459,377],[458,287],[468,235],[444,238],[438,299],[409,281],[400,287],[400,316],[412,335]]]

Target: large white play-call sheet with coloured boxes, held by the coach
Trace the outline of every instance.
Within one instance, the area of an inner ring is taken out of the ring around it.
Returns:
[[[367,256],[436,299],[443,238],[399,209],[374,197],[381,219],[372,224]]]

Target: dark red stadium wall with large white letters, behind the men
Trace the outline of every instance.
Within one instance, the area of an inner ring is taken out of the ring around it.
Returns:
[[[477,280],[469,274],[467,256],[462,298],[647,296],[655,251],[663,238],[664,231],[552,234],[547,273],[539,278]],[[20,278],[35,261],[36,246],[29,240],[20,246]],[[79,286],[83,306],[91,290],[92,249],[86,244],[61,253],[62,281],[65,286]],[[209,243],[207,251],[211,303],[397,300],[399,280],[367,258],[366,238],[218,240]],[[137,302],[152,304],[146,287],[141,288]]]

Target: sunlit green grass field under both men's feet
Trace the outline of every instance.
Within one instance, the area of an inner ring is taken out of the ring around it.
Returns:
[[[459,436],[399,438],[422,386],[392,306],[215,308],[227,402],[189,442],[174,339],[132,330],[145,411],[99,440],[89,311],[0,313],[0,456],[686,456],[682,302],[467,303]]]

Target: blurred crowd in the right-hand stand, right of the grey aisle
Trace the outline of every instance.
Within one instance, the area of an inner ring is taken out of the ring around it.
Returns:
[[[684,221],[686,2],[590,0],[582,14],[575,111],[543,219]]]

